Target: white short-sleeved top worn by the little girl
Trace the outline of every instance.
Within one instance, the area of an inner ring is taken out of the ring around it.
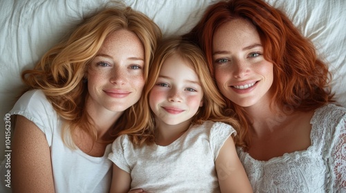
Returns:
[[[215,161],[235,130],[206,121],[190,128],[167,146],[134,147],[129,136],[114,141],[109,159],[131,174],[131,189],[147,192],[220,192]]]

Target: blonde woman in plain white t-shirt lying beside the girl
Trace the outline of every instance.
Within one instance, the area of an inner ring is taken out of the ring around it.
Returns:
[[[146,119],[137,101],[160,38],[144,14],[107,8],[23,72],[30,89],[9,112],[13,192],[109,192],[110,143]]]

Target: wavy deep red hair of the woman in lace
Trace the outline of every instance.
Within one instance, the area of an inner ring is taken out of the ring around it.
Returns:
[[[208,67],[214,76],[212,37],[222,24],[242,18],[253,23],[264,47],[264,58],[274,65],[274,91],[271,108],[315,110],[332,101],[331,73],[316,57],[316,49],[300,34],[286,15],[261,0],[221,1],[210,6],[197,26],[184,39],[199,45],[206,54]],[[226,98],[225,98],[226,99]],[[229,108],[237,112],[242,125],[240,137],[248,144],[246,111],[226,99]]]

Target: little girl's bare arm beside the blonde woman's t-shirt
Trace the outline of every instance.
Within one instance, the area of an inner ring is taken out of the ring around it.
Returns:
[[[129,173],[121,170],[113,163],[113,175],[111,179],[111,193],[129,192],[131,187],[131,176]],[[135,191],[136,192],[136,191]]]

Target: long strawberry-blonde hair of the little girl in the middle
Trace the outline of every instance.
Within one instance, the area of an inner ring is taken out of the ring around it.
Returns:
[[[120,134],[128,134],[132,143],[135,145],[143,145],[154,143],[155,140],[155,123],[154,113],[149,108],[149,92],[156,83],[156,79],[160,74],[161,67],[165,60],[173,54],[179,54],[185,61],[190,63],[199,77],[203,89],[203,106],[199,108],[197,114],[192,118],[192,124],[201,124],[206,120],[220,121],[228,123],[239,131],[239,123],[233,118],[233,110],[225,110],[226,102],[217,89],[215,81],[210,76],[206,59],[201,49],[188,41],[183,41],[176,37],[163,40],[155,53],[153,63],[150,67],[149,78],[145,85],[145,94],[141,96],[140,104],[143,110],[148,114],[147,124],[143,128],[131,128],[130,130],[122,130]],[[228,112],[225,114],[225,112]],[[235,142],[239,143],[237,137]]]

